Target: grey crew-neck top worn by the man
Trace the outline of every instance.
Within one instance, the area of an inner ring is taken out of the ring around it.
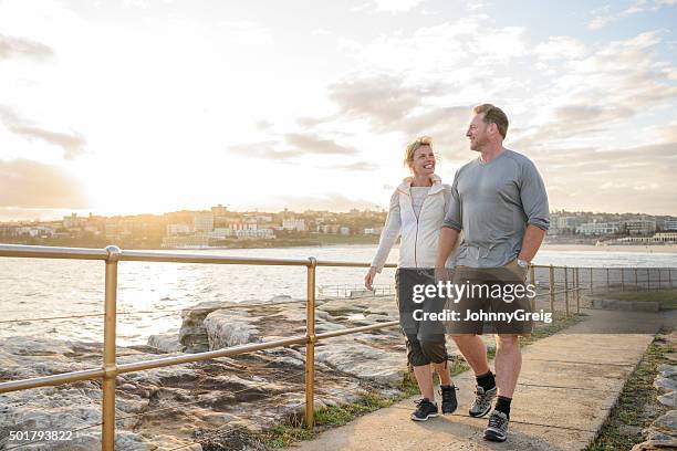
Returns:
[[[456,264],[499,268],[517,258],[527,224],[548,230],[545,186],[533,162],[504,149],[489,162],[461,167],[442,227],[464,231]]]

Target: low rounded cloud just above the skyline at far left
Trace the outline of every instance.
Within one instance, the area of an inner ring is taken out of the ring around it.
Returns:
[[[0,160],[0,207],[87,207],[80,185],[58,166],[28,159]]]

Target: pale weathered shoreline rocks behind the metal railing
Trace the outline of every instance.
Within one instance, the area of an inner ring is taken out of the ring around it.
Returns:
[[[397,318],[389,297],[317,301],[316,332]],[[305,333],[305,304],[202,303],[183,313],[178,332],[152,336],[148,346],[118,347],[118,363]],[[12,337],[0,343],[0,381],[101,366],[102,345]],[[395,396],[406,373],[397,327],[331,338],[315,349],[315,408],[367,392]],[[304,345],[121,375],[117,379],[117,450],[169,450],[196,442],[204,449],[221,431],[265,430],[300,421],[304,406]],[[0,395],[0,449],[19,444],[10,431],[74,431],[71,441],[31,442],[30,450],[92,450],[101,440],[101,382],[80,381]],[[76,431],[80,428],[87,429]],[[25,443],[25,442],[21,442]],[[209,448],[209,447],[207,447]],[[233,448],[238,449],[238,448]]]

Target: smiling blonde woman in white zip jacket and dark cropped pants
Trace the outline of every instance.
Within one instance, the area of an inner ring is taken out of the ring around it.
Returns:
[[[412,171],[412,177],[404,179],[390,198],[390,209],[381,233],[378,250],[364,277],[364,284],[368,290],[373,289],[374,277],[383,270],[393,244],[402,235],[399,263],[395,273],[399,325],[406,336],[407,358],[414,367],[414,375],[423,395],[412,419],[425,421],[438,415],[433,388],[433,368],[440,379],[442,413],[451,413],[457,407],[456,387],[447,367],[444,327],[439,322],[414,318],[416,310],[440,312],[444,300],[426,298],[423,304],[413,300],[414,285],[435,283],[437,242],[451,188],[442,185],[435,174],[436,160],[429,137],[419,137],[409,144],[405,150],[404,162]],[[447,268],[450,268],[450,262],[451,259],[447,261]]]

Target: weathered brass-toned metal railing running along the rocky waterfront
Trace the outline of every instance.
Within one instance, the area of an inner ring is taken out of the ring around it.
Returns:
[[[263,258],[232,258],[202,254],[183,254],[150,251],[121,251],[111,245],[106,249],[81,249],[81,248],[51,248],[32,245],[0,244],[0,256],[30,258],[30,259],[74,259],[93,260],[105,262],[105,295],[104,295],[104,344],[103,365],[101,368],[91,368],[79,371],[63,373],[22,380],[0,382],[0,394],[33,389],[38,387],[58,386],[80,380],[102,379],[102,450],[112,451],[115,447],[115,385],[116,377],[126,373],[143,371],[152,368],[160,368],[173,365],[202,361],[219,357],[232,357],[241,354],[253,353],[264,349],[303,345],[305,344],[305,411],[304,421],[308,428],[314,426],[314,381],[315,381],[315,344],[321,339],[327,339],[342,335],[362,332],[377,331],[393,327],[398,321],[383,322],[368,326],[351,327],[322,334],[315,334],[315,273],[317,266],[331,268],[368,268],[369,263],[322,261],[314,258],[300,259],[263,259]],[[202,263],[202,264],[232,264],[232,265],[269,265],[269,266],[304,266],[306,268],[306,325],[305,334],[284,339],[265,343],[253,343],[232,346],[228,348],[209,350],[196,354],[184,354],[152,360],[135,361],[129,364],[116,363],[116,324],[117,324],[117,268],[119,262],[174,262],[174,263]],[[386,268],[396,268],[387,264]],[[550,308],[554,312],[554,302],[558,294],[564,294],[565,314],[570,315],[570,293],[574,293],[576,312],[580,312],[580,292],[585,290],[580,283],[580,269],[566,266],[542,266],[531,268],[529,279],[532,284],[538,282],[535,271],[538,269],[549,270],[548,291],[537,293],[538,296],[550,296]],[[556,270],[562,270],[563,283],[556,281]],[[670,271],[671,273],[671,271]],[[570,279],[570,274],[572,275]],[[592,272],[591,272],[592,274]],[[671,277],[671,275],[670,275]],[[592,290],[591,284],[590,289]],[[671,283],[671,279],[670,279]],[[563,289],[563,290],[562,290]],[[535,305],[535,298],[532,301]],[[98,315],[93,315],[98,316]],[[100,426],[94,424],[95,427]]]

